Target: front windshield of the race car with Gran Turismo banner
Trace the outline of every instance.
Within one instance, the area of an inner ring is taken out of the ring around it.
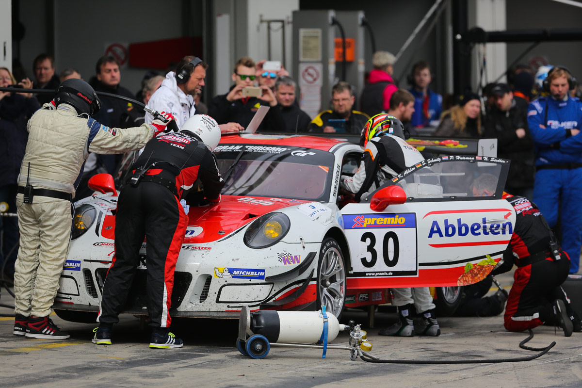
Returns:
[[[333,155],[318,149],[221,144],[214,150],[226,178],[222,194],[329,200]]]

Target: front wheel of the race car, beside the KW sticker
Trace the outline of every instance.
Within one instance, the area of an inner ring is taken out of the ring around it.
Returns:
[[[327,238],[321,243],[317,264],[317,303],[315,310],[325,305],[325,312],[342,316],[346,302],[346,264],[338,241]]]

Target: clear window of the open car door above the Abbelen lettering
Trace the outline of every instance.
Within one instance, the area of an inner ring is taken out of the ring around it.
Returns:
[[[469,200],[475,197],[475,179],[488,174],[496,184],[492,197],[501,198],[508,168],[509,161],[505,159],[487,156],[441,156],[418,163],[388,183],[404,188],[409,200]]]

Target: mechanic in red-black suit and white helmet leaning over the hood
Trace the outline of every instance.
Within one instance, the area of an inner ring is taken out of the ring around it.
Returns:
[[[178,133],[150,140],[134,163],[123,187],[115,220],[115,256],[105,284],[93,343],[111,345],[113,323],[119,322],[139,250],[147,237],[147,309],[152,329],[150,348],[177,348],[183,341],[169,332],[169,309],[176,261],[186,235],[188,191],[201,183],[210,202],[220,201],[224,181],[212,150],[221,131],[207,115],[194,115]],[[182,203],[180,203],[182,200]]]

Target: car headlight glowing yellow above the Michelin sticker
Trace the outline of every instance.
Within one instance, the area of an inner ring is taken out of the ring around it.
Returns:
[[[267,248],[278,243],[289,232],[291,222],[283,213],[268,213],[251,223],[244,233],[249,248]]]

